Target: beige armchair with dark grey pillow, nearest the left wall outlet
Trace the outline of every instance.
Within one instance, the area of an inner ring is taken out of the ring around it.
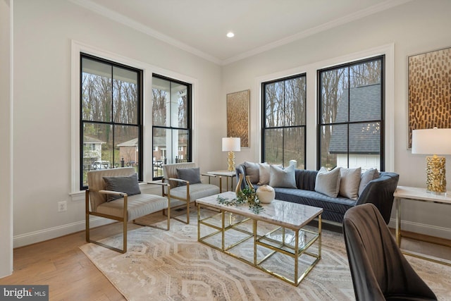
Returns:
[[[147,214],[152,214],[157,211],[168,210],[167,212],[167,230],[169,230],[171,223],[171,208],[168,206],[168,198],[161,197],[159,195],[149,195],[141,194],[140,188],[137,185],[136,180],[130,179],[133,185],[128,185],[124,190],[129,190],[135,188],[135,195],[129,195],[123,191],[107,190],[108,187],[115,187],[111,183],[118,182],[117,177],[133,177],[135,174],[135,168],[125,167],[125,168],[111,168],[111,169],[101,169],[98,171],[89,171],[87,173],[87,184],[88,189],[85,192],[85,207],[86,207],[86,241],[93,242],[97,245],[107,247],[111,250],[117,252],[125,253],[127,252],[127,223],[128,221],[133,221],[137,223],[135,219],[138,219]],[[107,178],[104,178],[107,177]],[[111,177],[111,178],[110,178]],[[108,180],[109,186],[106,180]],[[163,187],[167,187],[168,193],[171,192],[171,188],[168,184],[164,183],[152,183],[159,184]],[[118,187],[120,185],[116,185]],[[132,186],[130,188],[129,186]],[[107,202],[108,198],[114,198]],[[123,223],[123,249],[118,249],[116,247],[111,247],[105,245],[102,242],[91,240],[89,238],[89,216],[101,216],[106,219],[113,219],[115,221],[121,221]],[[137,223],[142,226],[152,226],[144,223]],[[159,228],[153,226],[155,228]]]

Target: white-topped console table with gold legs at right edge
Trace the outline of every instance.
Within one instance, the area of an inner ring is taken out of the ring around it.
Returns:
[[[398,186],[395,190],[395,193],[393,196],[395,197],[395,208],[396,208],[396,242],[399,247],[401,247],[401,204],[402,200],[404,202],[410,202],[410,201],[417,201],[417,202],[431,202],[431,203],[439,203],[439,204],[451,204],[451,197],[449,196],[451,194],[447,193],[447,195],[435,195],[433,193],[426,192],[426,188],[414,188],[414,187],[407,187],[407,186]],[[411,252],[407,252],[405,250],[402,250],[404,254],[418,257],[421,259],[426,259],[431,262],[438,262],[440,264],[446,264],[448,266],[451,266],[451,263],[444,262],[439,259],[434,259],[431,257],[425,257],[421,256],[419,254],[414,254]]]

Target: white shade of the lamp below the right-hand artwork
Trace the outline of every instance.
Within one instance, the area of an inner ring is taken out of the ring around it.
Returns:
[[[412,130],[412,154],[451,154],[451,128]]]

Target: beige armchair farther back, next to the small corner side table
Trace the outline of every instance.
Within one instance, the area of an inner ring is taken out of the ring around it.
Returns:
[[[210,178],[216,178],[218,176],[199,173],[199,177],[208,176],[209,183],[190,183],[190,180],[184,180],[179,177],[180,169],[183,168],[192,170],[193,168],[197,168],[197,166],[192,162],[163,165],[162,183],[168,183],[170,186],[163,186],[162,195],[168,197],[171,208],[186,207],[186,221],[175,218],[174,216],[173,219],[183,223],[190,223],[190,204],[195,202],[196,199],[208,197],[209,195],[216,195],[220,192],[220,189],[218,186],[210,184]],[[221,177],[219,177],[219,185],[221,186],[221,184]]]

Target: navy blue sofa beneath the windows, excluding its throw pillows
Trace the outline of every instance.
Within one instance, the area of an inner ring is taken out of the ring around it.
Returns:
[[[236,166],[235,170],[237,178],[239,178],[240,173],[242,173],[243,178],[245,178],[245,164]],[[359,204],[372,203],[381,212],[385,223],[390,221],[390,214],[393,207],[393,192],[395,192],[400,178],[397,173],[380,172],[380,177],[371,180],[357,200],[348,199],[340,195],[338,195],[338,197],[328,197],[327,195],[316,192],[316,173],[318,173],[318,171],[295,169],[297,188],[275,187],[276,199],[313,207],[321,207],[323,208],[322,219],[336,221],[338,223],[342,223],[343,216],[347,209]],[[242,183],[243,188],[245,185],[244,182],[245,181]],[[258,188],[258,185],[254,186],[256,189]]]

